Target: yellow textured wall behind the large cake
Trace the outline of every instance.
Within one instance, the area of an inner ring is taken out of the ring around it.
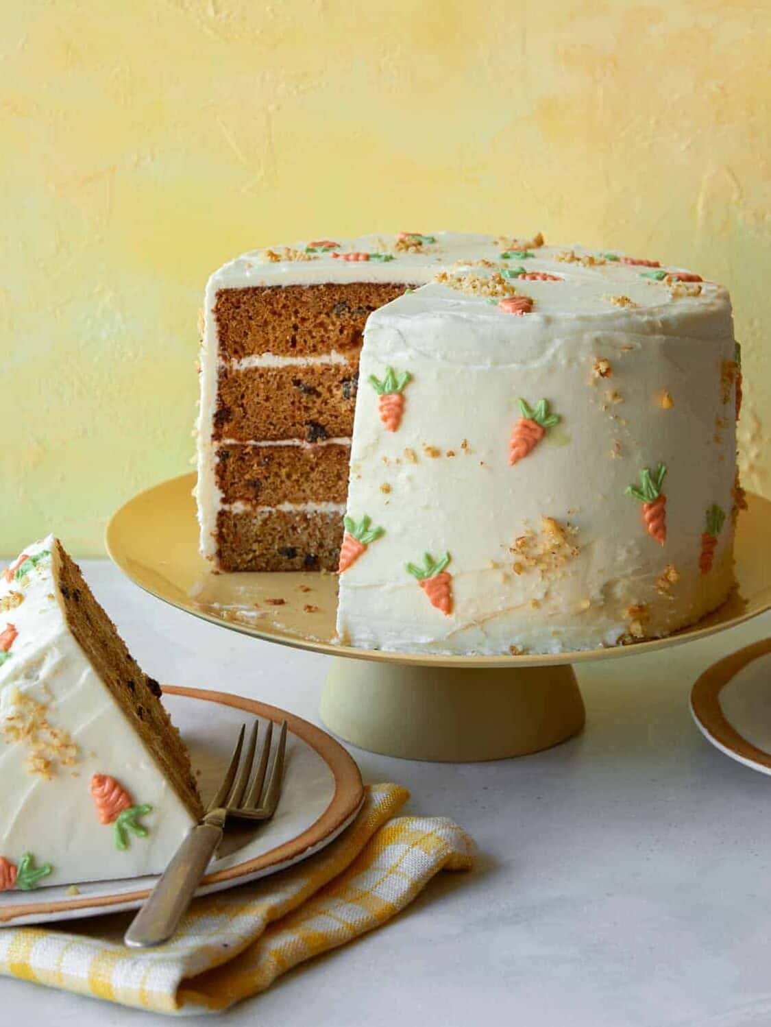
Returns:
[[[102,551],[189,468],[207,274],[297,237],[529,232],[731,289],[771,492],[765,0],[0,0],[0,549]]]

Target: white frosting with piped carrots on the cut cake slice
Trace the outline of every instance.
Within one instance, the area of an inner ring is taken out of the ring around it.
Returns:
[[[16,887],[160,873],[193,819],[67,625],[53,536],[25,554],[0,577],[0,887],[11,867]],[[94,774],[136,804],[123,849]]]

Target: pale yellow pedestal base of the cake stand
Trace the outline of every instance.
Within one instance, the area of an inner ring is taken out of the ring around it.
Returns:
[[[320,713],[331,731],[360,749],[451,762],[549,749],[585,720],[569,663],[475,670],[338,657]]]

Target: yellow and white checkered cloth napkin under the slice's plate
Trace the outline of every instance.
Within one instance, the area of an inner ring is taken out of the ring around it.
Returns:
[[[359,815],[325,849],[197,900],[161,948],[124,948],[124,917],[112,929],[91,920],[80,934],[5,927],[0,973],[158,1013],[224,1010],[386,923],[440,870],[471,869],[473,843],[452,821],[392,819],[408,798],[396,785],[370,786]]]

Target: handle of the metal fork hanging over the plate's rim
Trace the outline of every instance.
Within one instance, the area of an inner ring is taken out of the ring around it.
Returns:
[[[179,926],[222,839],[217,824],[199,824],[187,835],[158,883],[131,921],[123,941],[147,949],[167,942]]]

